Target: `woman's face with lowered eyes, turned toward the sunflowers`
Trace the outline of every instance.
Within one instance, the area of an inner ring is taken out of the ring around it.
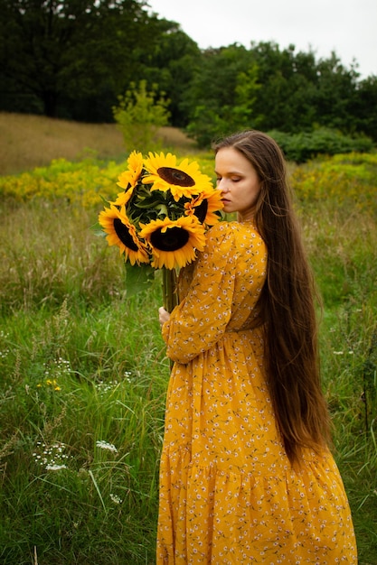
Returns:
[[[259,197],[260,181],[250,161],[233,147],[222,147],[215,157],[217,188],[223,211],[238,212],[240,221],[252,219]]]

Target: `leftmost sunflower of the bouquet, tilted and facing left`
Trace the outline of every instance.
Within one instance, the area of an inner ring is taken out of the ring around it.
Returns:
[[[129,222],[124,207],[118,210],[110,205],[110,208],[102,210],[99,224],[108,234],[108,245],[118,245],[120,255],[125,254],[125,261],[128,259],[130,264],[149,263],[146,245],[137,237],[137,230]]]

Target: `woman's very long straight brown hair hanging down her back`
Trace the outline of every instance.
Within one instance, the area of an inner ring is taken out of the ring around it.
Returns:
[[[278,144],[269,135],[250,130],[223,139],[215,153],[223,147],[239,151],[259,174],[254,221],[269,257],[259,302],[267,380],[287,457],[294,463],[302,448],[319,449],[330,437],[319,375],[313,275]]]

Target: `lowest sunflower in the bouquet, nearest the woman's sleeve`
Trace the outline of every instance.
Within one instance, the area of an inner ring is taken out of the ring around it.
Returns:
[[[145,238],[152,248],[152,266],[155,269],[184,267],[195,259],[196,250],[204,249],[204,227],[193,216],[174,221],[156,219],[140,227],[139,236]]]

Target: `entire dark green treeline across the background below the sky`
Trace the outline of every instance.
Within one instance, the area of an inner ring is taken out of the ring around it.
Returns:
[[[146,80],[202,146],[243,127],[377,142],[377,77],[336,53],[200,50],[142,0],[0,0],[0,14],[0,110],[111,122],[118,97]]]

